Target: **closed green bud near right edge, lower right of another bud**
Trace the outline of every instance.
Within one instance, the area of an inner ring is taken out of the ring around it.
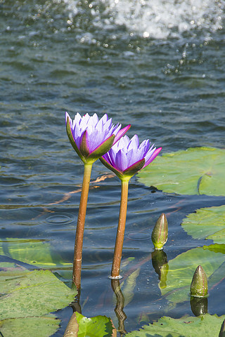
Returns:
[[[208,292],[207,276],[205,270],[199,265],[193,275],[191,282],[191,296],[194,297],[206,297]]]

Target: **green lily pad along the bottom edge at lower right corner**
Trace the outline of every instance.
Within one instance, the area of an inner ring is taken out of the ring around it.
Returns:
[[[139,331],[127,333],[126,337],[212,337],[219,336],[225,316],[205,314],[200,317],[173,319],[162,317],[158,322],[145,325]],[[213,332],[212,332],[213,331]]]

